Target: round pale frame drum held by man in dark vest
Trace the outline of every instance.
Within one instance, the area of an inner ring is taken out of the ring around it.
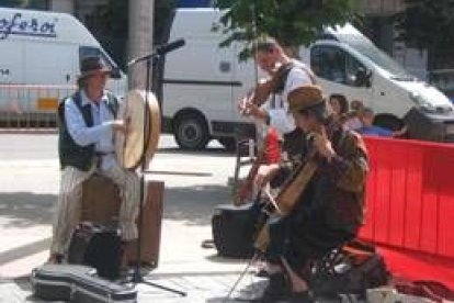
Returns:
[[[151,92],[130,90],[121,102],[118,117],[129,121],[126,135],[115,133],[115,150],[120,164],[134,170],[144,160],[144,168],[148,168],[161,132],[158,100]]]

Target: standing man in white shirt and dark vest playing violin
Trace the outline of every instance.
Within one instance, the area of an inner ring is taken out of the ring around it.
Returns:
[[[281,45],[271,37],[257,43],[254,59],[270,77],[240,100],[239,111],[276,130],[282,142],[283,160],[293,161],[294,157],[305,149],[306,143],[288,112],[287,97],[296,88],[315,83],[315,77],[306,65],[288,57]],[[257,171],[260,178],[263,177],[264,182],[268,182],[276,176],[279,166],[261,164]],[[279,186],[280,179],[282,178],[274,179],[277,183],[275,186]]]

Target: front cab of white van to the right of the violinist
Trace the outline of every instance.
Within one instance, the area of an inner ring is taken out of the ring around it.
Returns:
[[[375,124],[396,130],[405,122],[412,138],[454,141],[447,97],[407,72],[351,24],[327,29],[300,55],[327,94],[361,100],[374,110]]]

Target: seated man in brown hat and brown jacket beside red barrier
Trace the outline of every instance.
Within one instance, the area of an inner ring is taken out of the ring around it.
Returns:
[[[367,172],[363,141],[330,117],[319,87],[298,88],[288,101],[296,124],[311,139],[302,167],[276,198],[287,212],[270,220],[268,234],[263,233],[269,238],[260,249],[268,261],[270,283],[260,302],[283,298],[313,302],[306,271],[309,260],[351,240],[363,221]]]

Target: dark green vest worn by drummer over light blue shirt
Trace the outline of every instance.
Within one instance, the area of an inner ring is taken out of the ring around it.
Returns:
[[[106,92],[107,108],[114,116],[118,111],[118,100],[112,92]],[[76,92],[70,97],[82,114],[83,121],[88,127],[93,126],[93,116],[91,104],[82,105],[80,92]],[[61,100],[58,105],[58,155],[60,159],[60,168],[67,166],[76,167],[79,170],[88,171],[93,164],[94,144],[88,146],[78,145],[68,132],[65,119],[65,101]]]

